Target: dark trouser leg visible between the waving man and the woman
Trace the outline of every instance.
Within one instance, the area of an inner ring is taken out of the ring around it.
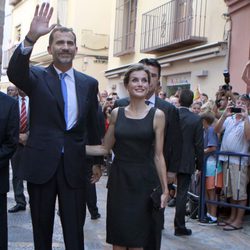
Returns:
[[[90,181],[92,176],[92,164],[87,163],[87,165],[88,179],[86,181],[86,203],[90,214],[95,216],[98,213],[96,186]]]

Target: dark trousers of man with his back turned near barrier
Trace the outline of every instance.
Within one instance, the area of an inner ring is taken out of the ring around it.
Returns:
[[[176,207],[175,207],[175,218],[174,226],[175,229],[184,229],[185,215],[186,215],[186,203],[188,189],[191,182],[191,174],[177,174],[177,196],[176,196]]]

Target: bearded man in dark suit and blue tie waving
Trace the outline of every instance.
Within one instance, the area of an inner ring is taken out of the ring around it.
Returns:
[[[88,144],[101,143],[98,134],[98,82],[72,68],[77,52],[72,29],[49,26],[53,8],[37,5],[30,30],[15,50],[8,76],[30,100],[30,133],[23,150],[21,179],[27,180],[36,250],[52,249],[56,198],[65,248],[84,249],[86,131]],[[52,31],[53,30],[53,31]],[[47,67],[29,66],[35,42],[50,31]],[[99,159],[97,159],[99,160]],[[100,168],[94,178],[99,179]]]

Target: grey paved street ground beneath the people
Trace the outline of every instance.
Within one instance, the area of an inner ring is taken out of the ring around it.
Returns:
[[[98,206],[102,217],[92,221],[87,214],[85,224],[85,249],[109,250],[111,246],[105,243],[105,206],[106,181],[102,177],[97,184]],[[13,191],[8,195],[8,207],[14,205]],[[173,235],[174,208],[167,208],[165,212],[165,229],[163,230],[162,250],[247,250],[250,245],[250,216],[245,217],[243,230],[225,232],[217,226],[201,226],[196,220],[189,219],[187,227],[193,230],[191,237],[176,237]],[[29,208],[25,212],[9,214],[9,249],[34,249],[32,243],[32,229]],[[53,249],[63,250],[63,238],[59,217],[55,216]]]

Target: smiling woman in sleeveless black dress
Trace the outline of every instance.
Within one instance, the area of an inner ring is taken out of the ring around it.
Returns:
[[[108,180],[107,242],[114,250],[143,249],[152,224],[150,194],[158,174],[168,198],[166,164],[163,157],[164,113],[145,104],[150,73],[142,64],[130,67],[124,76],[130,104],[111,113],[103,145],[86,146],[87,154],[115,154]],[[155,171],[156,170],[156,171]]]

